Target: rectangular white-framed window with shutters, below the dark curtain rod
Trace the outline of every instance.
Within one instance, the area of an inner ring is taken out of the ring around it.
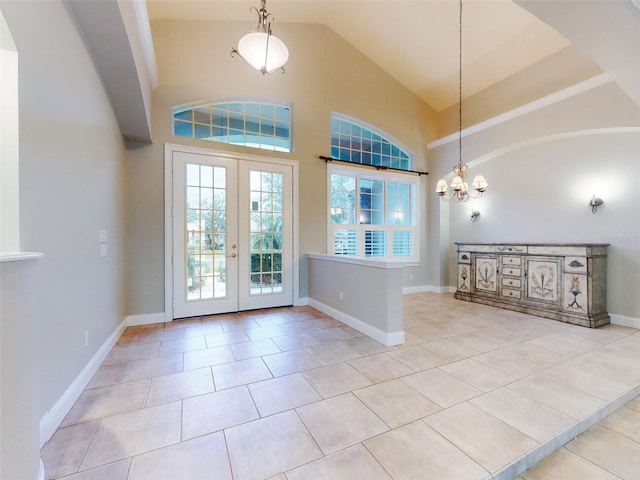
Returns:
[[[328,251],[419,260],[418,177],[333,165],[328,168]]]

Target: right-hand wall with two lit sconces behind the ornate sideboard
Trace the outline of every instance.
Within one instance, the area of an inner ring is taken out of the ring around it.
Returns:
[[[611,243],[609,313],[640,319],[640,109],[614,82],[471,134],[463,152],[470,177],[483,173],[489,189],[431,209],[442,263],[430,283],[455,285],[454,242]],[[456,154],[457,142],[430,150],[432,188]],[[593,194],[605,201],[595,215]]]

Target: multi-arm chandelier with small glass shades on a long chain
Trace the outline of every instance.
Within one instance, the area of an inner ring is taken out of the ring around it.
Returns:
[[[469,198],[480,198],[487,189],[488,183],[482,175],[476,175],[471,186],[474,192],[469,192],[466,181],[469,167],[462,162],[462,0],[460,0],[460,49],[458,56],[458,163],[453,167],[453,180],[451,180],[451,193],[447,196],[448,186],[444,178],[438,180],[436,193],[444,200],[454,202],[466,202]]]

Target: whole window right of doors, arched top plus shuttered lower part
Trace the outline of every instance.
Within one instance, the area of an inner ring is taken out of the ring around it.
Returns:
[[[331,126],[331,156],[354,165],[327,163],[327,250],[419,261],[418,177],[355,165],[411,170],[413,153],[375,127],[342,115],[334,114]]]

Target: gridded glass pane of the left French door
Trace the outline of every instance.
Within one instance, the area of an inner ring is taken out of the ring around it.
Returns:
[[[186,169],[185,297],[224,298],[226,170],[197,164],[187,164]]]

